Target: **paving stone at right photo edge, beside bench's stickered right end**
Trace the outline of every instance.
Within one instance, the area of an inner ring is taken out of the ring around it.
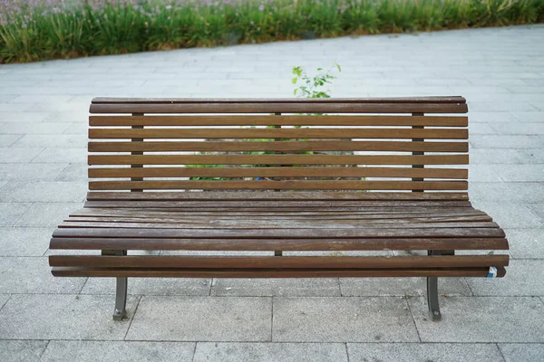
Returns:
[[[467,281],[477,296],[544,296],[544,260],[511,260],[504,278]]]

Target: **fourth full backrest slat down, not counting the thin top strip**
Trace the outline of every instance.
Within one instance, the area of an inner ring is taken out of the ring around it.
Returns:
[[[89,152],[169,152],[169,151],[400,151],[400,152],[468,152],[468,142],[412,141],[143,141],[89,142]]]

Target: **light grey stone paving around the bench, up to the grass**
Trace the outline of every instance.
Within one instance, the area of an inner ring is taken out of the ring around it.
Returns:
[[[369,36],[0,65],[0,360],[544,360],[544,26]],[[82,205],[93,96],[292,94],[337,61],[335,96],[470,100],[471,197],[506,229],[504,280],[53,279],[48,238]]]

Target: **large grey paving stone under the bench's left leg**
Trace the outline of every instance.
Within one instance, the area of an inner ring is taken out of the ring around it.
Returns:
[[[128,298],[129,316],[137,301]],[[122,340],[130,323],[112,310],[110,295],[13,295],[0,310],[0,339]]]

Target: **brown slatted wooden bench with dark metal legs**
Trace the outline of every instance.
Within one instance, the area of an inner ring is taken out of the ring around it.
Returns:
[[[426,277],[440,319],[438,277],[505,274],[509,257],[490,252],[505,234],[460,168],[462,97],[97,98],[90,111],[91,191],[50,246],[87,254],[49,262],[58,277],[117,278],[113,319],[128,277]],[[266,253],[231,255],[248,251]]]

